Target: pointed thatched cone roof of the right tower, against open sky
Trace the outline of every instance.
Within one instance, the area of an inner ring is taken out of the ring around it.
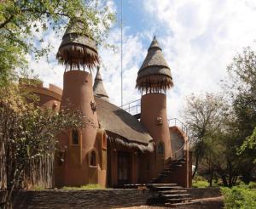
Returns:
[[[148,48],[148,54],[137,73],[137,88],[158,91],[172,88],[172,74],[156,38]]]

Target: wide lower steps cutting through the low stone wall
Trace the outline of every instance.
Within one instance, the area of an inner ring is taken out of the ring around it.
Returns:
[[[149,205],[178,207],[192,204],[188,191],[177,184],[147,184],[147,187],[154,192]]]

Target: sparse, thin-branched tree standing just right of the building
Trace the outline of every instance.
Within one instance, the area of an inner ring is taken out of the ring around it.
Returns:
[[[212,93],[198,97],[192,95],[186,100],[183,118],[189,129],[190,143],[195,155],[193,177],[198,169],[199,161],[205,155],[206,139],[218,130],[225,117],[225,109],[222,97]]]

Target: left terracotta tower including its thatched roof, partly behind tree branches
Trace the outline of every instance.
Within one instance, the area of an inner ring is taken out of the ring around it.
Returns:
[[[98,166],[102,144],[96,137],[98,119],[90,73],[99,64],[99,58],[96,43],[84,35],[79,21],[73,21],[67,27],[56,57],[66,65],[61,109],[80,110],[87,117],[84,119],[87,125],[83,129],[70,128],[61,133],[60,151],[55,157],[55,185],[79,186],[101,182],[104,186],[106,169],[102,171]],[[58,159],[59,155],[64,161]]]

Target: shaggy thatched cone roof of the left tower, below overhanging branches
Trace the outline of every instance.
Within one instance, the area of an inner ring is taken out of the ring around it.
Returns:
[[[83,24],[79,20],[73,20],[67,27],[56,58],[70,70],[80,70],[84,66],[91,69],[99,64],[96,43],[84,35]]]

